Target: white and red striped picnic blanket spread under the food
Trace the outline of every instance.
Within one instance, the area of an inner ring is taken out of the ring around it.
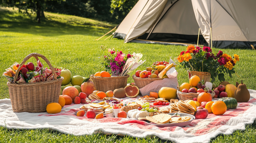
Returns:
[[[88,119],[75,116],[82,104],[65,105],[60,113],[14,113],[10,99],[0,100],[0,126],[8,129],[52,129],[64,134],[85,135],[94,133],[130,135],[144,138],[158,136],[160,139],[177,143],[210,142],[220,134],[232,134],[245,130],[245,125],[256,119],[256,91],[249,90],[250,100],[238,103],[236,109],[227,110],[224,115],[209,114],[206,119],[195,119],[185,127],[156,127],[134,118]],[[132,101],[134,98],[125,98]]]

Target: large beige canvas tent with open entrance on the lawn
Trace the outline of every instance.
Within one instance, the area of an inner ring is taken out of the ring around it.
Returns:
[[[256,0],[139,0],[115,31],[124,43],[256,46]]]

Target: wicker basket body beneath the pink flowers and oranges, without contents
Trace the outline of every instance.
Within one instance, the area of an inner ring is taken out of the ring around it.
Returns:
[[[113,76],[113,77],[98,77],[91,75],[90,79],[92,79],[95,84],[96,90],[107,92],[109,90],[114,91],[118,88],[124,88],[127,85],[127,80],[130,76]]]

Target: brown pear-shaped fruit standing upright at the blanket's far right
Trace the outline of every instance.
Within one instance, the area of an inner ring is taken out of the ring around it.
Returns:
[[[246,88],[246,85],[243,84],[243,80],[241,81],[241,84],[238,85],[235,93],[234,98],[236,98],[237,102],[248,102],[250,99],[250,93],[248,89]]]

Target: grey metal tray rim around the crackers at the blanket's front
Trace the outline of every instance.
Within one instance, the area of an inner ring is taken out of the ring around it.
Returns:
[[[186,122],[181,122],[181,123],[168,123],[168,124],[152,124],[149,123],[150,125],[155,125],[157,127],[171,127],[171,126],[179,126],[179,127],[185,127],[187,125],[189,125],[196,117],[190,114],[186,114],[186,113],[169,113],[169,115],[179,115],[179,116],[189,116],[191,119],[189,121]]]

